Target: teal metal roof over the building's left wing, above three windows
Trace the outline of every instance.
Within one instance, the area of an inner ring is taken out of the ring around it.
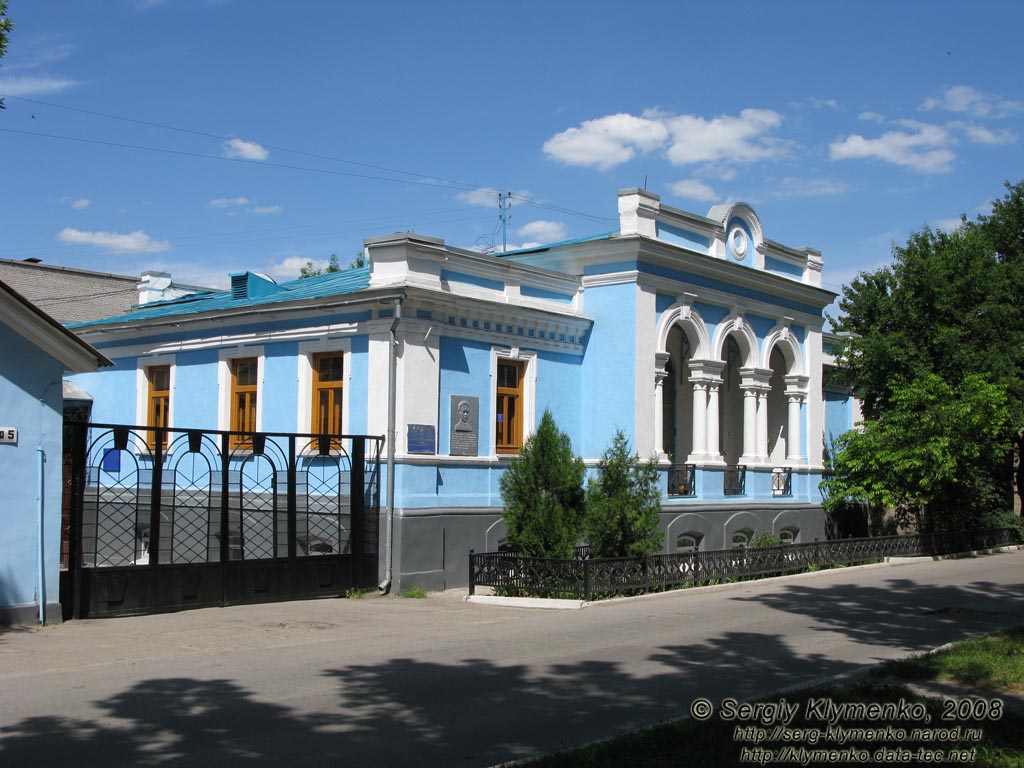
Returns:
[[[250,275],[256,276],[256,275]],[[232,292],[217,291],[182,296],[178,299],[141,304],[137,309],[113,317],[104,317],[88,323],[74,323],[69,328],[93,328],[95,326],[113,325],[115,323],[141,323],[148,319],[175,317],[204,312],[226,311],[229,309],[245,309],[248,307],[282,304],[304,299],[318,299],[328,296],[340,296],[355,293],[370,287],[370,267],[360,266],[328,272],[314,278],[301,278],[275,286],[276,290],[261,296],[232,298]]]

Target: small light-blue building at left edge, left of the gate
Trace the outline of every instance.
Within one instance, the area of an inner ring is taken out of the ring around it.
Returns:
[[[111,365],[0,282],[0,624],[60,621],[66,373]]]

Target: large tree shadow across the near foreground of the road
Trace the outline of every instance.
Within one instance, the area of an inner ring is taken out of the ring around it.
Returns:
[[[229,680],[153,679],[95,701],[89,717],[0,727],[0,765],[493,765],[675,719],[698,696],[766,693],[793,674],[847,669],[797,657],[775,636],[730,633],[656,648],[632,671],[601,659],[530,668],[486,658],[326,669],[331,703],[317,699],[325,711],[315,713]],[[315,673],[310,680],[315,689]]]

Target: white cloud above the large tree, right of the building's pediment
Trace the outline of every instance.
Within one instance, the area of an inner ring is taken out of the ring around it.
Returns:
[[[874,158],[921,173],[952,170],[956,156],[949,148],[953,138],[946,129],[910,120],[900,121],[900,125],[910,131],[889,131],[878,138],[853,134],[836,140],[828,146],[828,157],[833,160]]]

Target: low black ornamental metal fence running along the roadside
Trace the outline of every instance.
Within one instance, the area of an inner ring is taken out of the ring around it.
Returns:
[[[493,587],[511,596],[595,600],[616,595],[858,565],[886,557],[943,555],[1018,544],[1017,528],[842,539],[758,549],[678,552],[646,557],[571,560],[521,557],[515,552],[470,553],[469,594]]]

